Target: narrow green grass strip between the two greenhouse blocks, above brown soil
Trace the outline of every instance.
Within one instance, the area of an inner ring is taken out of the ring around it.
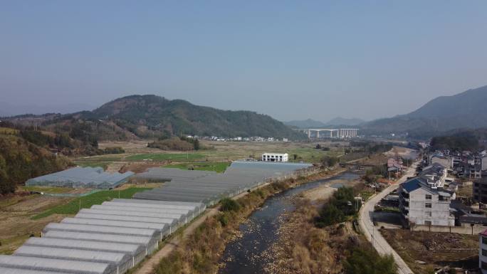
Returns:
[[[41,214],[37,214],[32,217],[33,220],[45,218],[52,214],[77,214],[80,209],[89,209],[94,204],[102,204],[104,201],[110,201],[115,198],[130,199],[134,194],[140,191],[149,190],[151,188],[145,187],[132,187],[130,189],[123,190],[104,190],[90,194],[88,196],[80,197],[70,201],[68,204],[62,204],[55,206],[52,209],[48,209]]]

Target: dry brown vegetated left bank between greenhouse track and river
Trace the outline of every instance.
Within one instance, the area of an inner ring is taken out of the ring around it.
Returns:
[[[343,169],[324,171],[306,178],[268,184],[261,189],[251,191],[251,193],[237,200],[240,205],[238,211],[219,212],[206,218],[194,230],[194,233],[182,239],[174,251],[155,265],[154,272],[158,274],[216,273],[219,258],[226,247],[226,243],[239,237],[240,224],[266,199],[286,189],[293,189],[310,181],[329,178],[343,171]]]

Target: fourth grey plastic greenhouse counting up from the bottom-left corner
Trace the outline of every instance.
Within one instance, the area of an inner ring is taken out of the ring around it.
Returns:
[[[45,238],[61,238],[82,241],[100,241],[100,242],[114,242],[114,243],[130,243],[140,245],[145,248],[146,255],[151,254],[159,246],[159,238],[143,237],[143,236],[126,236],[116,234],[99,234],[99,233],[83,233],[70,231],[47,231],[43,233]]]

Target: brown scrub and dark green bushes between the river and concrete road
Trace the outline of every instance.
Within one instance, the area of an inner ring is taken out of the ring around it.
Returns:
[[[397,266],[392,256],[379,255],[352,222],[356,218],[353,197],[361,186],[342,187],[329,201],[296,199],[273,246],[268,273],[304,274],[393,274]],[[324,204],[323,204],[324,203]]]

